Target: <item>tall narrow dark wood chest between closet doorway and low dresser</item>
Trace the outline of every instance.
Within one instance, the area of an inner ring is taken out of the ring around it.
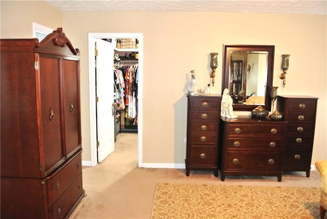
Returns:
[[[218,177],[220,96],[188,96],[186,176],[190,170],[212,170]]]

